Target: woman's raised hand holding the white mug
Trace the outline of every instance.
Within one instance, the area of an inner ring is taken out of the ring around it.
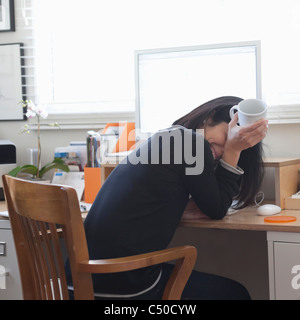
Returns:
[[[228,125],[227,140],[222,155],[222,159],[233,167],[237,166],[240,153],[262,141],[268,130],[268,120],[265,119],[244,127],[237,126],[237,122],[236,112]]]

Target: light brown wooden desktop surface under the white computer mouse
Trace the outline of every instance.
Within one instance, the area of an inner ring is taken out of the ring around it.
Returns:
[[[1,201],[0,211],[5,210],[5,202]],[[255,208],[245,208],[232,215],[226,216],[222,220],[211,220],[206,218],[182,220],[180,226],[209,229],[300,232],[300,210],[283,210],[277,215],[294,216],[297,218],[297,221],[288,223],[266,223],[264,222],[263,216],[257,215]],[[83,218],[85,218],[85,216],[86,213],[83,214]]]

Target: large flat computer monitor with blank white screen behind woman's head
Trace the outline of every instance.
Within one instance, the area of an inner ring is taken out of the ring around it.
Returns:
[[[260,42],[135,52],[136,128],[154,133],[220,96],[261,99]]]

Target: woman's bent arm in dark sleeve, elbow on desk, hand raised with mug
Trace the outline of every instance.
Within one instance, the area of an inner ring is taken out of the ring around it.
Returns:
[[[267,130],[267,121],[262,119],[246,127],[237,126],[238,116],[229,123],[227,140],[222,160],[233,168],[242,150],[248,149],[263,139]],[[197,139],[197,136],[194,136]],[[204,169],[199,175],[183,177],[187,191],[191,194],[200,210],[212,219],[222,219],[232,199],[240,190],[241,176],[232,170],[218,165],[214,168],[214,159],[208,141],[204,141]]]

